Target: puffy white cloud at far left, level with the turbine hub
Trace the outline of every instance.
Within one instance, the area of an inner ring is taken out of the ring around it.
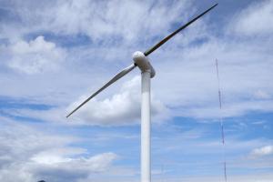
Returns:
[[[44,36],[34,40],[23,40],[7,45],[2,49],[7,52],[6,64],[25,74],[36,74],[55,70],[65,59],[66,51],[55,43],[45,41]]]

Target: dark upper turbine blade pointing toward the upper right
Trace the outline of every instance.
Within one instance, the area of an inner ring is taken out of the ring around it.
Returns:
[[[179,27],[175,32],[173,32],[170,35],[167,35],[163,40],[161,40],[159,43],[157,43],[157,45],[152,46],[151,48],[147,49],[147,51],[145,51],[144,55],[148,56],[149,54],[151,54],[152,52],[154,52],[155,50],[157,50],[157,48],[161,45],[163,45],[164,43],[166,43],[168,41],[168,39],[170,39],[171,37],[173,37],[174,35],[176,35],[178,32],[180,32],[181,30],[185,29],[188,25],[192,24],[193,22],[195,22],[199,17],[201,17],[202,15],[207,14],[207,12],[209,12],[211,9],[213,9],[216,5],[211,6],[210,8],[208,8],[205,12],[203,12],[200,15],[197,15],[197,17],[193,18],[192,20],[190,20],[189,22],[187,22],[187,24],[182,25],[181,27]]]

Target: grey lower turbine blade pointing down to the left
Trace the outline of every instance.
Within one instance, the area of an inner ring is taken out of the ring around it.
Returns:
[[[89,96],[82,104],[80,104],[79,106],[77,106],[76,109],[74,109],[66,117],[71,116],[73,113],[76,112],[77,109],[79,109],[81,106],[84,106],[86,104],[86,102],[88,102],[91,98],[93,98],[98,93],[100,93],[101,91],[103,91],[104,89],[106,89],[107,86],[112,85],[114,82],[116,82],[122,76],[125,76],[127,73],[129,73],[130,71],[132,71],[135,67],[136,66],[133,64],[131,66],[126,67],[124,70],[122,70],[118,74],[116,74],[116,76],[114,76],[110,81],[108,81],[105,86],[102,86],[101,88],[99,88],[92,96]]]

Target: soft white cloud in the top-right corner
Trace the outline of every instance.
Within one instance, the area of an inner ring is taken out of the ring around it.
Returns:
[[[272,16],[273,1],[257,1],[236,16],[232,21],[231,29],[239,35],[271,35]]]

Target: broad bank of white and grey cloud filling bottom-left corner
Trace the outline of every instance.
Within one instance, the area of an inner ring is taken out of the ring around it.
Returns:
[[[91,156],[84,148],[68,147],[78,138],[50,135],[0,119],[1,181],[78,181],[108,170],[117,158],[111,152]]]

